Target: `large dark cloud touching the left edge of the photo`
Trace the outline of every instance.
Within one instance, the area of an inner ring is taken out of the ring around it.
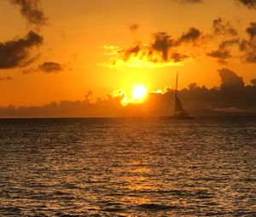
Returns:
[[[31,56],[30,49],[43,43],[43,37],[29,31],[24,38],[0,43],[0,69],[27,66],[38,58]]]

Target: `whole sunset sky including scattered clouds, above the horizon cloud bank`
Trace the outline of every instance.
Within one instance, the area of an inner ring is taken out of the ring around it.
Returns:
[[[165,89],[176,71],[179,89],[219,86],[221,68],[256,77],[254,0],[20,2],[0,2],[0,106]]]

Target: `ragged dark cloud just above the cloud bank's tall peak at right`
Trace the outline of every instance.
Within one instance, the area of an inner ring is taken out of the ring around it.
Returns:
[[[240,40],[238,38],[226,40],[219,44],[217,50],[213,50],[210,53],[207,53],[208,56],[216,58],[219,63],[226,64],[228,59],[232,56],[230,47],[239,44]]]

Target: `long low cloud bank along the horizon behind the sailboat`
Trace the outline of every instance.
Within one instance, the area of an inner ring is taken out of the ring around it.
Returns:
[[[228,68],[218,70],[220,86],[207,89],[189,84],[178,91],[185,109],[193,116],[248,115],[256,114],[256,78],[245,86],[242,77]],[[142,104],[122,106],[123,90],[108,94],[106,99],[91,100],[89,91],[84,100],[49,103],[45,106],[0,107],[0,117],[158,117],[168,111],[172,114],[175,90],[166,88],[148,94]]]

